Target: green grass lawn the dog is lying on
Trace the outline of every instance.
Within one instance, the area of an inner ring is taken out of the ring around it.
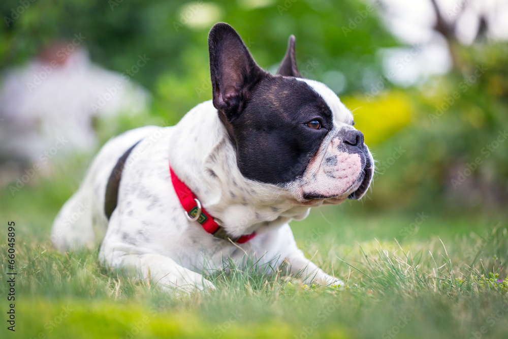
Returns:
[[[105,270],[97,251],[51,249],[52,218],[76,189],[82,165],[56,169],[58,179],[14,196],[0,191],[0,248],[5,258],[7,221],[15,221],[18,272],[16,332],[4,322],[2,337],[508,337],[504,215],[424,211],[416,227],[416,213],[366,213],[359,202],[316,209],[292,223],[295,237],[308,257],[346,282],[344,289],[231,265],[208,277],[216,291],[181,297]]]

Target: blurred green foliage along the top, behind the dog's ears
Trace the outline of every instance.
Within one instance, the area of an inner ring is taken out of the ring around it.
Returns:
[[[2,17],[11,17],[19,5],[2,2]],[[0,68],[21,63],[55,40],[71,41],[82,34],[93,61],[108,69],[123,72],[139,54],[150,58],[134,79],[155,95],[156,114],[174,121],[211,97],[207,33],[214,22],[190,25],[186,17],[230,23],[266,69],[280,62],[294,34],[300,67],[312,63],[309,78],[322,80],[326,71],[338,70],[347,90],[355,91],[362,89],[365,70],[380,74],[375,51],[396,45],[380,28],[375,12],[345,36],[338,23],[359,10],[365,4],[356,1],[35,1],[9,27],[0,25]]]

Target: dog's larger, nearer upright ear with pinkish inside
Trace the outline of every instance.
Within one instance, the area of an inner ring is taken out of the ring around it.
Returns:
[[[241,112],[250,91],[267,73],[250,55],[236,30],[225,22],[216,23],[208,36],[213,106],[231,120]]]

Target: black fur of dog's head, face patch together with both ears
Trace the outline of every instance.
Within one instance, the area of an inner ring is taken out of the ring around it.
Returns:
[[[325,100],[294,77],[300,76],[294,37],[276,76],[256,64],[226,23],[212,27],[208,49],[213,106],[235,144],[240,172],[273,184],[303,175],[333,117]]]

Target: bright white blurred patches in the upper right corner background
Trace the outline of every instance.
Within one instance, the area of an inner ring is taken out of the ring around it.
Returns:
[[[386,26],[397,38],[421,46],[416,54],[411,53],[411,47],[380,51],[385,76],[391,82],[399,86],[415,85],[452,69],[454,60],[449,42],[436,31],[437,15],[431,0],[369,1],[382,9]],[[478,38],[481,18],[488,26],[487,38],[508,39],[506,0],[436,0],[436,6],[444,23],[450,25],[450,35],[462,44],[470,45]],[[410,62],[400,61],[404,58]]]

